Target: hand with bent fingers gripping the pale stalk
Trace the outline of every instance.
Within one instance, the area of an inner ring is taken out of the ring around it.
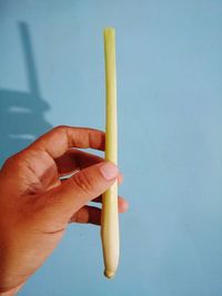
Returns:
[[[13,295],[43,264],[70,222],[100,224],[101,211],[87,204],[101,202],[121,175],[114,164],[77,147],[103,150],[104,133],[56,127],[0,171],[0,293],[9,292],[2,295]],[[119,197],[119,212],[127,207]]]

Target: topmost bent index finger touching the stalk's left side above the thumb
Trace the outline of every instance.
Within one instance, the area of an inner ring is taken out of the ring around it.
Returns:
[[[60,157],[70,147],[104,150],[105,134],[89,127],[57,126],[40,136],[29,147],[44,151],[52,159]]]

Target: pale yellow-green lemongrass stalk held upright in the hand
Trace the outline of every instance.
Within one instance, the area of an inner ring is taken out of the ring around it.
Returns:
[[[107,126],[105,160],[118,162],[117,122],[117,74],[114,29],[104,30]],[[101,238],[104,258],[104,275],[113,277],[119,262],[118,183],[115,182],[102,197]]]

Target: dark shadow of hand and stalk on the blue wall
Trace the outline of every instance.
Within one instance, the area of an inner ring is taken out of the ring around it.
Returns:
[[[52,127],[44,120],[44,112],[50,106],[41,98],[27,23],[19,22],[19,32],[24,53],[29,91],[0,89],[0,166],[11,154],[26,147],[40,134]]]

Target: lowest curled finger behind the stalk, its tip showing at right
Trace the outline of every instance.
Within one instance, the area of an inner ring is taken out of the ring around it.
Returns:
[[[123,213],[127,211],[127,202],[123,198],[119,198],[118,211]],[[124,207],[123,207],[124,204]],[[124,208],[124,210],[123,210]],[[90,223],[94,225],[101,225],[101,210],[94,206],[85,205],[80,208],[74,215],[71,216],[69,223]]]

